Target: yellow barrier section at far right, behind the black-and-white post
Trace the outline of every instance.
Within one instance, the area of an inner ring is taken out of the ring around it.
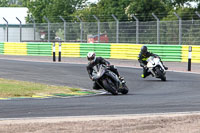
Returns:
[[[189,46],[182,46],[182,62],[188,62]],[[200,63],[200,46],[192,45],[192,59],[193,63]]]

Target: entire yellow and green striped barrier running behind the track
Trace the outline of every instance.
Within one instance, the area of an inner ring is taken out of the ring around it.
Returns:
[[[89,51],[97,56],[114,59],[137,60],[141,44],[107,44],[107,43],[62,43],[62,57],[86,57]],[[158,54],[163,61],[188,62],[188,45],[146,45],[149,51]],[[59,43],[56,43],[56,56]],[[0,54],[52,56],[53,43],[45,42],[1,42]],[[200,63],[200,46],[192,46],[192,62]]]

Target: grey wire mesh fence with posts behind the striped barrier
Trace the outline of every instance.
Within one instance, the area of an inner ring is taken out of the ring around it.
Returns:
[[[33,23],[23,24],[21,30],[19,25],[7,28],[1,24],[0,41],[52,42],[59,39],[74,43],[200,44],[200,20],[99,23]]]

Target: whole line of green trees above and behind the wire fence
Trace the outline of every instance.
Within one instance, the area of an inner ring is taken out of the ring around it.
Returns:
[[[195,6],[191,4],[195,3]],[[113,21],[114,14],[119,21],[133,21],[134,14],[140,21],[152,21],[152,13],[160,20],[177,19],[176,12],[182,19],[198,19],[195,14],[200,10],[200,0],[99,0],[89,3],[88,0],[0,0],[0,7],[27,7],[27,22],[34,18],[35,22],[61,22],[62,16],[68,22],[95,21],[94,16],[102,22]]]

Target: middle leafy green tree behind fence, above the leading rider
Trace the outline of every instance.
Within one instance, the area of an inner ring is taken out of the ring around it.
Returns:
[[[101,22],[114,21],[112,14],[119,21],[123,21],[127,20],[125,8],[129,3],[130,0],[100,0],[97,4],[90,4],[84,9],[78,10],[75,14],[88,22],[96,21],[93,15],[96,15]]]

